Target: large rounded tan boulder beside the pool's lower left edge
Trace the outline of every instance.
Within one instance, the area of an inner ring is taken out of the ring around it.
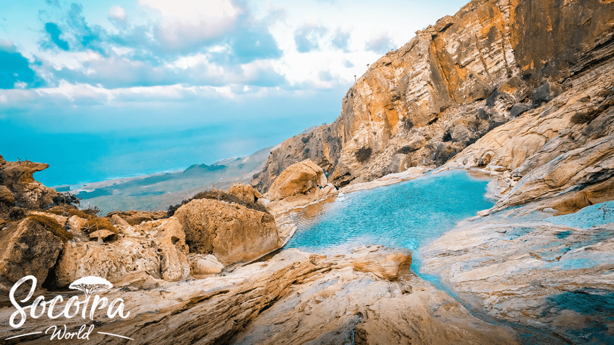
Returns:
[[[278,248],[272,215],[235,203],[190,201],[175,212],[190,252],[213,254],[223,265],[247,262]]]

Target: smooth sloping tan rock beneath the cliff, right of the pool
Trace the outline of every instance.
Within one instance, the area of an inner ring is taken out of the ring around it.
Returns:
[[[586,80],[495,128],[446,166],[507,170],[508,190],[489,213],[540,201],[564,214],[614,200],[613,86],[612,71]]]

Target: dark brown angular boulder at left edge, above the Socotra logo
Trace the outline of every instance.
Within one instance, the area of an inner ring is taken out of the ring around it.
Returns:
[[[24,219],[0,230],[0,279],[14,283],[25,276],[44,282],[63,247],[58,236]]]

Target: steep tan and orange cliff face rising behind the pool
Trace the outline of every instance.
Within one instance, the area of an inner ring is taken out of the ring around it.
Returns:
[[[612,18],[611,1],[470,2],[371,64],[348,90],[340,117],[283,142],[252,185],[266,192],[287,166],[306,158],[338,187],[442,165],[556,96],[529,99],[541,85],[551,82],[560,93],[607,71]],[[361,161],[362,148],[371,154]]]

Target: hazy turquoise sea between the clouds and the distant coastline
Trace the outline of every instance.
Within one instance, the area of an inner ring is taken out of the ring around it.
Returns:
[[[195,128],[106,133],[7,130],[0,139],[9,161],[48,163],[34,178],[50,187],[182,171],[271,147],[332,116],[228,121]]]

